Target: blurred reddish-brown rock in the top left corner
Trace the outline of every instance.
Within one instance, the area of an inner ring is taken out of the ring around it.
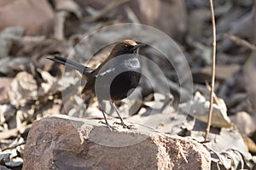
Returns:
[[[29,36],[49,35],[53,31],[54,12],[45,0],[3,0],[0,14],[0,30],[21,26]]]

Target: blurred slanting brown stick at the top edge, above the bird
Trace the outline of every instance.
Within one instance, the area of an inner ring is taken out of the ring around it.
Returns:
[[[107,7],[103,8],[101,11],[99,11],[97,14],[90,16],[90,17],[85,17],[84,21],[86,22],[91,22],[94,20],[98,20],[101,18],[104,14],[107,14],[109,11],[111,11],[113,8],[117,8],[120,5],[127,3],[130,0],[116,0],[110,3]]]

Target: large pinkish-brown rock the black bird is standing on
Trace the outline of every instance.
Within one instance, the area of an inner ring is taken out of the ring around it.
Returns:
[[[111,131],[97,120],[43,118],[28,134],[23,169],[210,169],[202,144],[136,127]]]

